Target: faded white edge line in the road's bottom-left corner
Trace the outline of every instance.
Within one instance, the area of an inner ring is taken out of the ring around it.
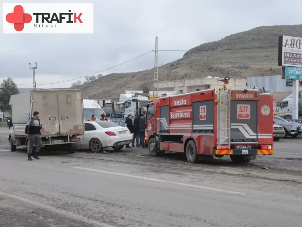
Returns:
[[[69,212],[69,211],[56,209],[53,206],[48,206],[48,205],[45,205],[45,204],[42,204],[42,203],[39,203],[39,202],[34,202],[34,201],[31,201],[30,199],[25,199],[25,198],[20,197],[20,196],[11,195],[11,194],[7,194],[7,193],[4,193],[4,192],[0,192],[0,196],[7,196],[7,197],[10,197],[10,198],[13,198],[13,199],[20,200],[22,202],[27,202],[31,205],[36,206],[36,207],[40,207],[41,209],[48,210],[50,212],[55,212],[59,215],[68,216],[69,218],[80,221],[80,222],[85,222],[85,223],[93,224],[95,226],[100,226],[100,227],[115,227],[113,225],[107,225],[105,223],[101,223],[101,222],[97,222],[97,221],[85,218],[81,215],[77,215],[77,214],[74,214],[74,213]]]

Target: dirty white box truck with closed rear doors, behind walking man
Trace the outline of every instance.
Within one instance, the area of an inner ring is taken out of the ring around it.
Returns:
[[[34,111],[40,113],[42,146],[67,148],[74,153],[72,143],[79,143],[84,134],[83,96],[77,89],[32,90],[12,95],[9,101],[11,119],[8,140],[11,150],[29,146],[25,127]],[[36,144],[35,144],[36,145]]]

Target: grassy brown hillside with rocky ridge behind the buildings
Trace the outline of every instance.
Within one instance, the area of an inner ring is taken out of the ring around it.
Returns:
[[[186,52],[181,59],[159,67],[159,80],[225,75],[246,78],[281,74],[278,47],[255,48],[278,45],[278,35],[302,37],[302,25],[262,26],[226,36],[219,41],[201,44]],[[153,71],[154,69],[112,73],[76,87],[82,89],[89,98],[117,100],[125,90],[141,90],[143,85],[152,90]]]

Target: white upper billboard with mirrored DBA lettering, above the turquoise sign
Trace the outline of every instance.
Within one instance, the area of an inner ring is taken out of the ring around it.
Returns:
[[[302,66],[302,38],[279,35],[278,66]]]

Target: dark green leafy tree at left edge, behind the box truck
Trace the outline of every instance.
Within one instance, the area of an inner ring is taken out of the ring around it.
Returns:
[[[14,83],[11,77],[4,79],[0,84],[0,110],[2,112],[11,113],[9,100],[11,95],[19,94],[17,84]]]

